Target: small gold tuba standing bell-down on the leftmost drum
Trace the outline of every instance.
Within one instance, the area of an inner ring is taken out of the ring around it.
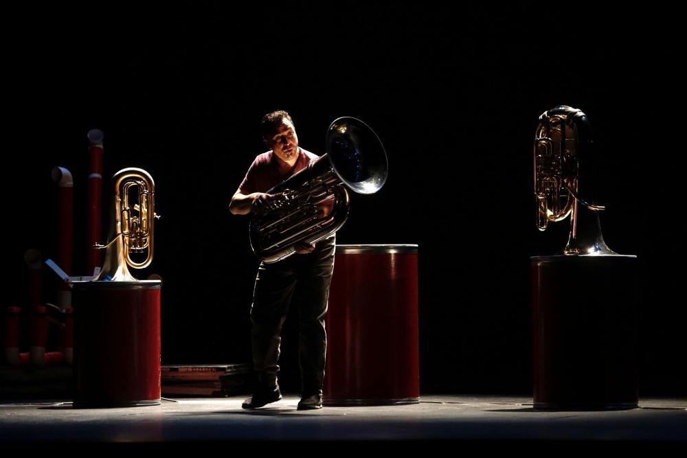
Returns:
[[[125,168],[113,176],[115,196],[112,204],[112,222],[106,245],[102,270],[93,281],[137,282],[127,266],[145,268],[153,262],[153,221],[155,214],[155,183],[153,177],[139,168]],[[134,194],[135,193],[135,194]],[[130,198],[130,194],[134,197]],[[132,205],[133,201],[137,201]],[[146,259],[136,262],[131,253],[148,250]]]

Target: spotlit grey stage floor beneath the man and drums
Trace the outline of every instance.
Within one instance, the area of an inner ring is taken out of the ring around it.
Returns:
[[[687,399],[640,400],[624,411],[541,411],[532,399],[425,395],[419,404],[297,411],[297,396],[254,411],[235,398],[164,399],[159,406],[73,409],[71,402],[6,401],[0,444],[18,447],[187,446],[284,441],[433,441],[530,446],[687,445]]]

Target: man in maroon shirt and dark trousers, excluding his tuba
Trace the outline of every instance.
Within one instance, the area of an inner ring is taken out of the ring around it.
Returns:
[[[267,194],[275,185],[304,170],[317,155],[298,146],[293,120],[286,111],[262,117],[262,139],[270,148],[259,154],[229,203],[232,214],[243,215],[275,205],[278,194]],[[299,410],[322,408],[326,354],[324,317],[334,269],[335,234],[317,244],[298,242],[296,254],[278,262],[261,262],[251,306],[253,363],[258,386],[243,402],[257,409],[282,398],[277,382],[282,323],[291,299],[298,307],[299,360],[302,398]]]

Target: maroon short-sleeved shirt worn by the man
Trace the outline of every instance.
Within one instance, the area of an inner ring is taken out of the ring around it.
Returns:
[[[271,151],[258,154],[238,190],[241,194],[267,192],[289,176],[306,168],[308,163],[317,157],[316,154],[299,147],[298,159],[291,170],[280,170],[279,159]]]

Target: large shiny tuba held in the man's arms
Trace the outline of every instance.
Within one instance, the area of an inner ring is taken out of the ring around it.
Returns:
[[[270,205],[251,212],[251,247],[264,262],[282,260],[295,253],[298,242],[315,244],[339,230],[348,218],[346,186],[373,194],[384,185],[386,153],[367,124],[335,119],[326,146],[326,154],[267,192],[278,194]]]

